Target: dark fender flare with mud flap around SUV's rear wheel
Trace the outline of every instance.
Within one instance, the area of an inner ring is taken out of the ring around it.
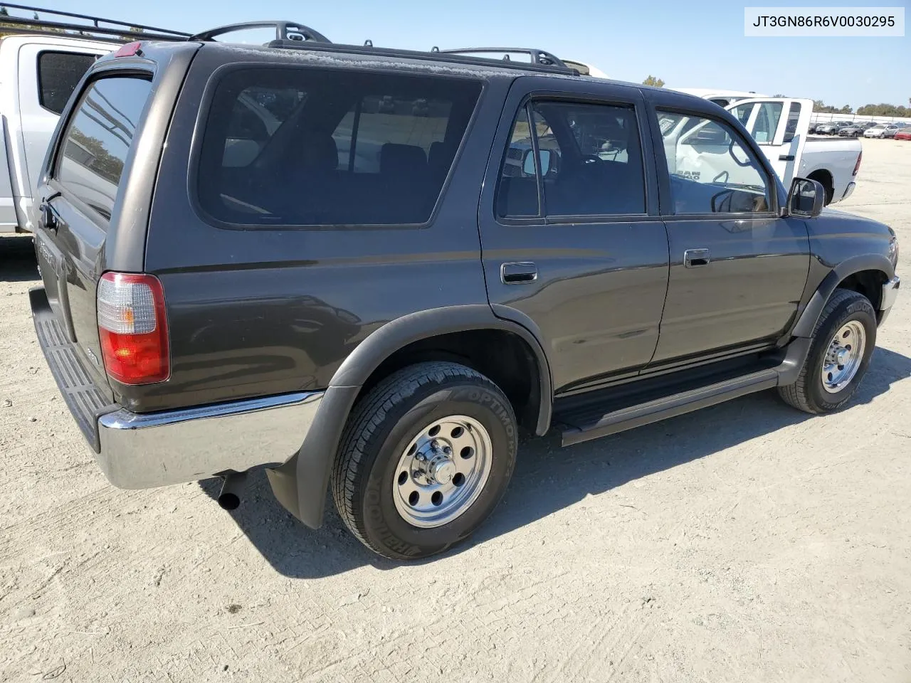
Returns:
[[[535,432],[548,431],[553,411],[550,366],[535,333],[514,321],[496,317],[490,306],[466,304],[410,313],[370,334],[344,360],[323,394],[313,426],[301,449],[287,463],[266,470],[272,493],[305,525],[318,528],[329,476],[348,415],[363,383],[394,352],[412,342],[469,330],[503,330],[517,334],[537,362],[538,412]]]

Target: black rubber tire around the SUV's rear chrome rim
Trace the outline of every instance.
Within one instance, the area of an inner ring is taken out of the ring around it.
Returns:
[[[399,457],[416,433],[453,414],[485,427],[493,445],[490,474],[474,503],[453,521],[410,525],[393,499]],[[333,498],[344,524],[375,553],[396,560],[432,556],[466,539],[493,512],[516,450],[516,416],[494,382],[455,362],[417,363],[394,372],[354,407],[333,467]]]

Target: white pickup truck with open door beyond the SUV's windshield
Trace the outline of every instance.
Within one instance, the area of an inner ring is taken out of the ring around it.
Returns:
[[[784,187],[793,178],[818,180],[825,188],[826,204],[847,199],[855,189],[862,149],[854,138],[810,136],[812,99],[744,97],[742,92],[678,88],[681,92],[711,99],[737,117],[772,163]],[[724,101],[729,104],[724,105]],[[669,124],[670,125],[670,124]],[[675,131],[681,135],[698,135]]]

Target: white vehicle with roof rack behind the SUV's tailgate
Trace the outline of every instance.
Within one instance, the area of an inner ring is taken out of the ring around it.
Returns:
[[[78,16],[66,12],[43,14],[53,14],[50,18],[57,21]],[[3,17],[5,25],[15,25],[15,19]],[[60,112],[87,68],[99,56],[117,49],[128,39],[124,36],[138,36],[139,30],[159,38],[189,36],[179,32],[165,34],[165,29],[152,26],[74,26],[97,35],[81,37],[62,34],[56,25],[29,25],[25,35],[0,39],[0,73],[14,75],[0,81],[0,116],[5,121],[0,144],[0,233],[33,231],[29,216],[37,169],[45,158]]]

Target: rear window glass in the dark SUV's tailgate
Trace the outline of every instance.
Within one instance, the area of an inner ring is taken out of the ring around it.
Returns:
[[[95,81],[67,124],[56,178],[110,219],[130,144],[152,84],[135,76]]]

